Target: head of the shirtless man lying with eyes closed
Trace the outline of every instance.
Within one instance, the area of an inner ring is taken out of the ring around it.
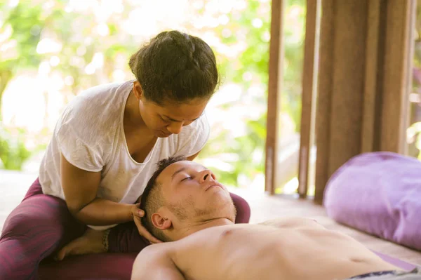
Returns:
[[[162,241],[179,239],[192,228],[225,219],[236,210],[226,187],[212,171],[184,156],[163,159],[142,194],[143,225]]]

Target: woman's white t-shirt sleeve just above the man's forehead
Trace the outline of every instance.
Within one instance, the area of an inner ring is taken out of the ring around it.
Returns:
[[[192,156],[203,149],[208,142],[210,126],[206,114],[183,128],[178,135],[178,149],[174,156]]]

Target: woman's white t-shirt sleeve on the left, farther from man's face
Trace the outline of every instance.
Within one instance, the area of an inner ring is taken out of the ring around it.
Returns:
[[[73,166],[85,171],[102,170],[102,152],[98,145],[98,134],[91,122],[83,118],[80,110],[67,108],[55,129],[55,138],[60,153]]]

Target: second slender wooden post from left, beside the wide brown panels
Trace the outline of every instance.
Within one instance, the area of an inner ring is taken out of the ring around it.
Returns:
[[[300,156],[298,164],[298,194],[307,196],[309,155],[314,143],[316,118],[317,69],[319,63],[321,0],[307,0],[305,23],[304,65],[302,68],[302,107]]]

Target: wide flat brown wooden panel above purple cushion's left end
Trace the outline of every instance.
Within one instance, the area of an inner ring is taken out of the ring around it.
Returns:
[[[367,0],[336,3],[328,178],[361,153],[365,81]]]

